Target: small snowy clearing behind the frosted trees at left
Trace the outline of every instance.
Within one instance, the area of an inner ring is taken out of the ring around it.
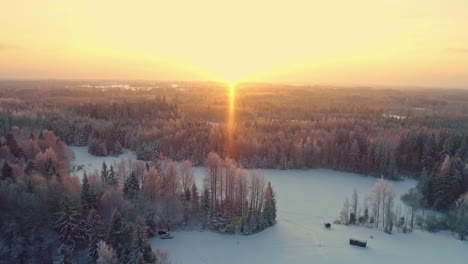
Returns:
[[[123,154],[118,156],[97,157],[88,153],[88,147],[68,147],[73,152],[73,160],[70,164],[71,174],[76,174],[80,178],[84,172],[91,173],[101,171],[102,163],[105,161],[107,166],[121,160],[136,160],[136,154],[133,151],[124,149]]]

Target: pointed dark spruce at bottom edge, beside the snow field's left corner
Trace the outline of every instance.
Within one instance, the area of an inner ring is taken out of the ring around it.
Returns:
[[[131,264],[150,264],[156,263],[156,256],[151,251],[151,246],[148,243],[145,228],[141,220],[138,220],[135,230],[132,235],[132,243],[130,246],[130,261]]]

